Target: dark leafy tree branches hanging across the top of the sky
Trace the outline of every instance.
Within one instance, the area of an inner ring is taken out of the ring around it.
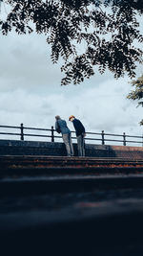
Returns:
[[[3,0],[4,1],[4,0]],[[102,74],[109,69],[115,78],[135,76],[136,63],[143,52],[133,46],[143,42],[137,22],[142,1],[136,0],[5,0],[10,13],[0,20],[0,31],[8,35],[47,35],[51,60],[64,59],[61,84],[79,83],[94,75],[98,66]],[[111,7],[111,12],[108,7]],[[34,28],[33,28],[34,25]]]

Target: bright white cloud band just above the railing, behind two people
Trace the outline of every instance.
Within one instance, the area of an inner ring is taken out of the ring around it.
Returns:
[[[54,116],[61,115],[68,126],[68,117],[74,114],[85,125],[87,131],[141,135],[138,125],[142,109],[126,99],[130,91],[128,79],[104,81],[98,87],[86,88],[81,93],[69,95],[64,92],[50,95],[32,94],[26,89],[2,92],[0,116],[2,125],[51,128]],[[120,89],[119,88],[119,83]],[[128,89],[127,89],[128,88]]]

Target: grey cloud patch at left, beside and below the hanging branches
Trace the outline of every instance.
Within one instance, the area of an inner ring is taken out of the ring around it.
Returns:
[[[0,36],[1,90],[26,87],[51,87],[61,80],[60,67],[53,65],[44,35]],[[56,76],[55,76],[56,74]],[[54,79],[53,79],[54,78]]]

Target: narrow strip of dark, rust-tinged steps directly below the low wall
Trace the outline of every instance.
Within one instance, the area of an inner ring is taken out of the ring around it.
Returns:
[[[99,170],[99,169],[143,169],[143,159],[115,157],[67,157],[67,156],[0,156],[3,169],[47,169],[47,170]]]

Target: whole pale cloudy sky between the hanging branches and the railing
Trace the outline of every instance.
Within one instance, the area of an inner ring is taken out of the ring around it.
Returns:
[[[60,115],[73,130],[74,115],[87,131],[142,135],[142,107],[127,99],[129,77],[95,71],[81,84],[61,86],[64,74],[51,62],[45,35],[0,35],[0,46],[0,125],[51,128]],[[142,73],[138,65],[136,78]]]

